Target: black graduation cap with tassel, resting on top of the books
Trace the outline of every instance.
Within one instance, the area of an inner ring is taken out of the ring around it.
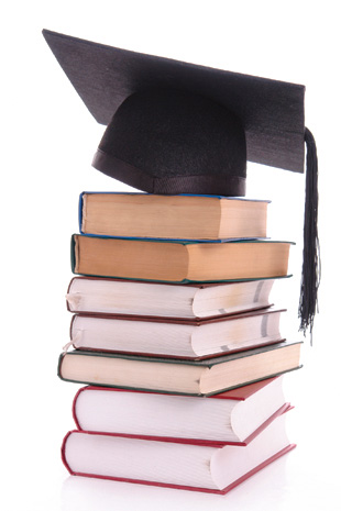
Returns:
[[[318,163],[305,127],[305,87],[43,35],[97,122],[92,165],[150,193],[244,196],[246,160],[305,171],[300,330],[314,325],[319,286]]]

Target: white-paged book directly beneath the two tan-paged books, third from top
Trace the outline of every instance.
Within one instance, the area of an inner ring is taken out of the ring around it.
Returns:
[[[179,285],[74,277],[66,303],[70,312],[95,315],[202,319],[268,307],[273,285],[273,279]]]

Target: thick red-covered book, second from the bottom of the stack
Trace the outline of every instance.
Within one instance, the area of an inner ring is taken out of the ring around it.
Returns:
[[[248,445],[285,402],[283,376],[208,398],[82,387],[73,415],[78,430],[200,445]]]

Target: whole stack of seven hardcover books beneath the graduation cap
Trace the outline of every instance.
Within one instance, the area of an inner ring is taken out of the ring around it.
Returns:
[[[58,364],[88,385],[62,446],[70,474],[226,493],[295,446],[283,375],[300,343],[270,301],[290,243],[266,238],[267,204],[80,196]]]

